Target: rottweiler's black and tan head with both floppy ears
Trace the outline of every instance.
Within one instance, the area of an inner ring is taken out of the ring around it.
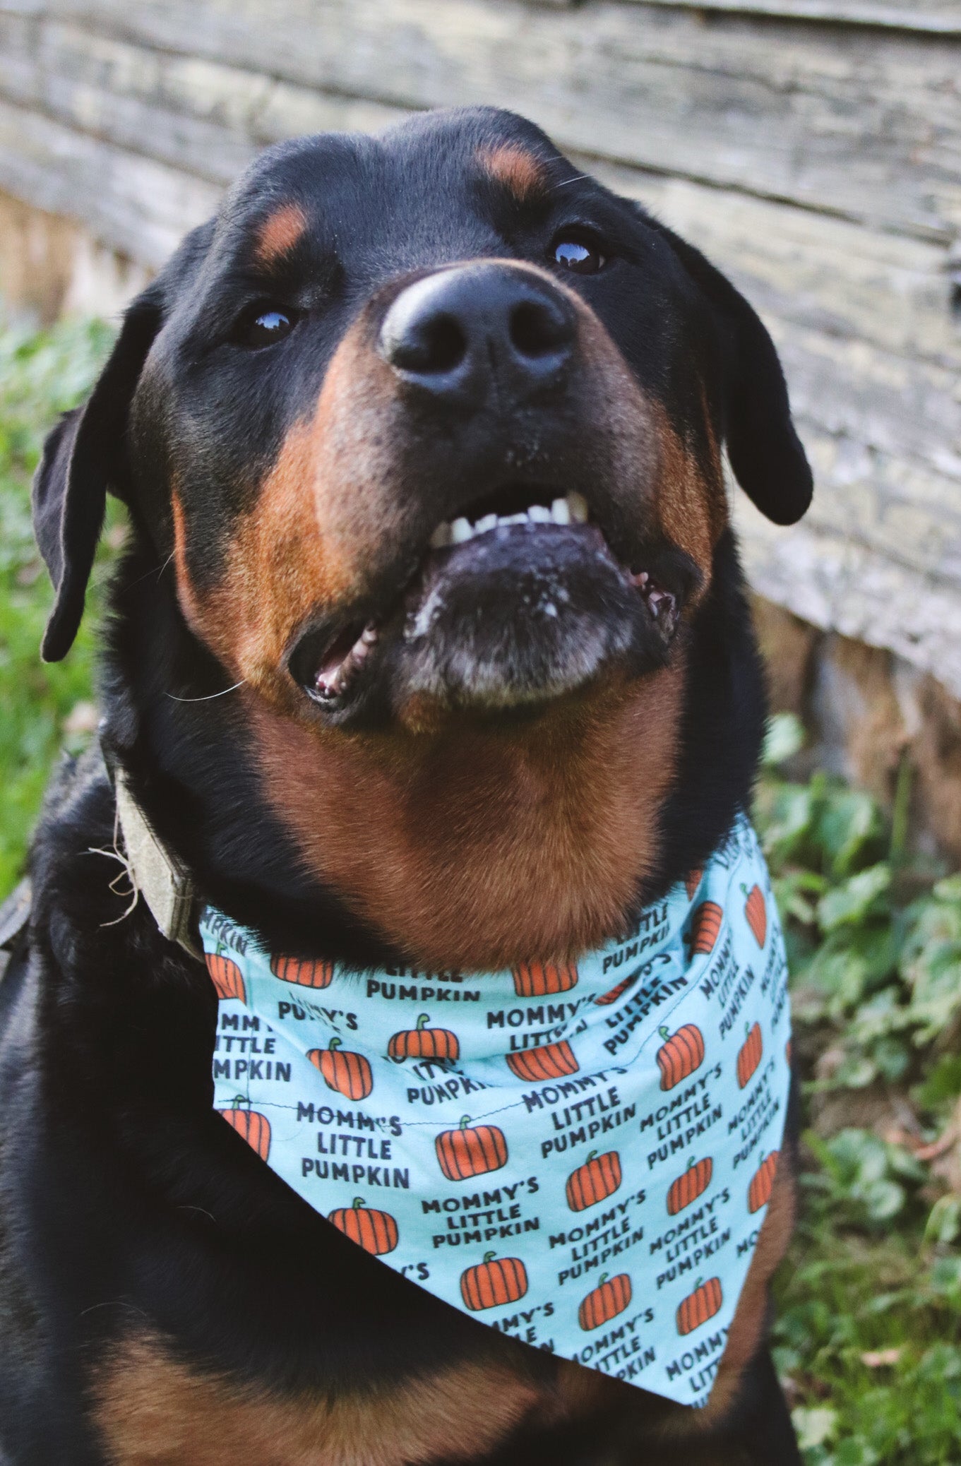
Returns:
[[[223,686],[243,685],[262,764],[316,758],[343,800],[374,759],[382,803],[451,730],[463,759],[470,737],[545,739],[617,705],[662,800],[724,446],[771,519],[803,515],[810,472],[752,308],[533,125],[478,108],[283,144],[132,305],[51,435],[44,655],[76,632],[111,488]],[[621,907],[650,865],[631,859]],[[356,896],[356,871],[324,878]]]

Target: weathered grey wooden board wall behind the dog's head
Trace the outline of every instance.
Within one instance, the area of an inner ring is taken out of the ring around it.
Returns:
[[[961,0],[0,0],[0,188],[152,267],[280,138],[527,113],[778,343],[817,494],[735,496],[753,583],[961,695]]]

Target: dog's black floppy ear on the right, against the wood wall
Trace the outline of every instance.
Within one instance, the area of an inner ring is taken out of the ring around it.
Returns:
[[[795,523],[812,500],[812,471],[794,431],[773,342],[743,295],[699,249],[664,230],[706,295],[718,327],[724,434],[744,493],[775,525]]]

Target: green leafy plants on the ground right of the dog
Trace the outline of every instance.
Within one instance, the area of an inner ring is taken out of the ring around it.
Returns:
[[[809,1466],[961,1460],[961,878],[905,856],[864,792],[784,778],[754,817],[785,921],[804,1107],[775,1359]]]

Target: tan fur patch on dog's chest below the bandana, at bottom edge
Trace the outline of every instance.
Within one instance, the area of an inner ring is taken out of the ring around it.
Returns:
[[[144,1330],[97,1366],[110,1466],[406,1466],[489,1451],[543,1393],[505,1366],[457,1365],[365,1396],[280,1396],[179,1359]]]

